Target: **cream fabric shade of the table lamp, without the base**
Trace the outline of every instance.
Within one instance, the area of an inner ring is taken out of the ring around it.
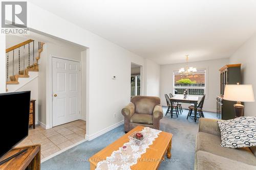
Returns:
[[[252,85],[226,85],[223,99],[236,102],[254,102]]]

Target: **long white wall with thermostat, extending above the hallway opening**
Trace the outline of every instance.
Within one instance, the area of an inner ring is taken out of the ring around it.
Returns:
[[[130,102],[131,62],[143,66],[143,58],[33,4],[29,3],[29,9],[30,28],[90,48],[87,136],[92,138],[122,122],[121,109]]]

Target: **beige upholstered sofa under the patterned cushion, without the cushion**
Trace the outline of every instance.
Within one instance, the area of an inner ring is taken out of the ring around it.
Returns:
[[[196,138],[195,169],[256,169],[256,147],[221,147],[217,119],[200,118]]]

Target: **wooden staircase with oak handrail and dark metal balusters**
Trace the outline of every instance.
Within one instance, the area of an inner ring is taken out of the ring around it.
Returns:
[[[38,50],[35,50],[35,40],[29,39],[6,49],[6,91],[8,85],[17,85],[18,88],[19,78],[29,78],[33,75],[31,71],[39,71],[38,60],[44,44],[38,41]],[[26,81],[22,82],[26,83]],[[13,91],[15,88],[11,87],[11,89]]]

